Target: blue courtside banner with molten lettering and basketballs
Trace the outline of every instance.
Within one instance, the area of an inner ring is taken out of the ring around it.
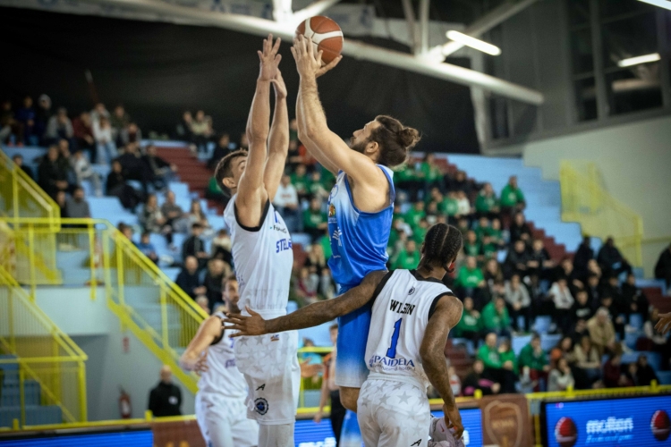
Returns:
[[[545,402],[549,447],[661,446],[671,439],[671,395]]]

